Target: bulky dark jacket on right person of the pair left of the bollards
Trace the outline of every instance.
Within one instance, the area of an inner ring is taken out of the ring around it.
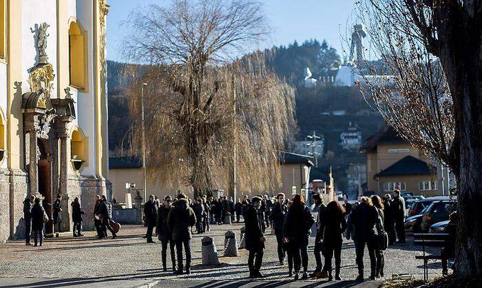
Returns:
[[[167,216],[167,227],[172,232],[174,241],[192,239],[191,227],[196,225],[196,215],[189,207],[187,199],[178,199],[172,203],[173,208]]]

